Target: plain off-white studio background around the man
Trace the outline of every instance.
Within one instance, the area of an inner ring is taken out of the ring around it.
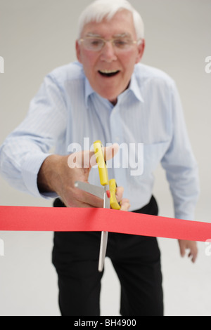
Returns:
[[[44,76],[75,60],[77,18],[89,0],[0,0],[0,144],[25,117]],[[146,25],[143,63],[176,81],[188,134],[200,171],[196,220],[210,222],[211,55],[210,0],[133,0]],[[161,168],[154,194],[160,216],[173,217],[172,198]],[[51,206],[10,187],[0,178],[0,205]],[[0,219],[1,221],[1,219]],[[0,232],[0,315],[60,315],[56,272],[51,265],[51,232]],[[210,233],[211,238],[211,233]],[[179,256],[178,243],[159,239],[165,315],[211,315],[211,256],[199,243],[195,265]],[[1,254],[1,253],[0,253]],[[119,315],[120,286],[106,259],[101,315]]]

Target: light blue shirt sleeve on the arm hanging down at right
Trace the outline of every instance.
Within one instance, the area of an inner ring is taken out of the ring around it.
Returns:
[[[194,220],[200,192],[198,164],[193,155],[177,87],[172,88],[172,141],[161,164],[174,202],[174,216]]]

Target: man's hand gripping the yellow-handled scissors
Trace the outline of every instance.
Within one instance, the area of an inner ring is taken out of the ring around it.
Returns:
[[[105,160],[112,159],[118,145],[104,148]],[[46,158],[38,173],[40,192],[56,192],[68,207],[103,207],[103,200],[75,187],[76,181],[88,183],[91,167],[96,165],[94,152],[75,152],[69,156],[51,155]],[[117,201],[122,200],[123,190],[117,188]],[[121,210],[129,209],[129,201],[122,200]]]

